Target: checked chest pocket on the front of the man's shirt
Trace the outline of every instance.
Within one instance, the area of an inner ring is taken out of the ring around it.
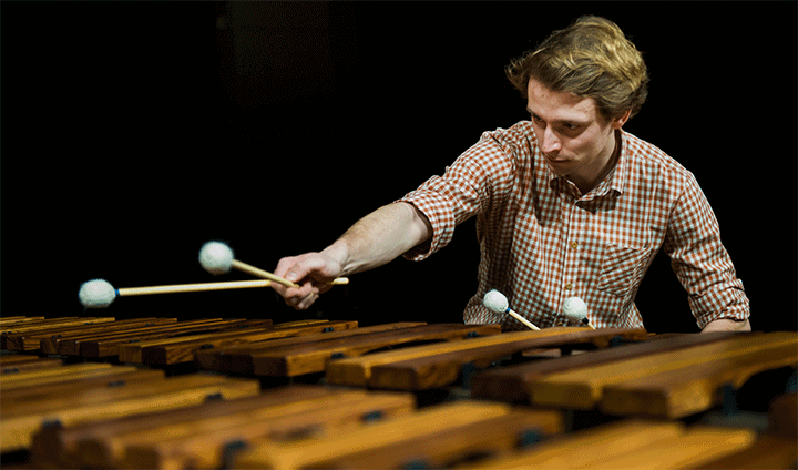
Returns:
[[[604,248],[597,287],[618,297],[635,290],[646,270],[649,249],[607,245]]]

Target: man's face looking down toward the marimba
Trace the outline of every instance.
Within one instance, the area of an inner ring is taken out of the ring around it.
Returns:
[[[526,110],[552,172],[592,187],[610,163],[615,149],[614,130],[626,117],[607,121],[592,98],[553,92],[534,79],[528,92]]]

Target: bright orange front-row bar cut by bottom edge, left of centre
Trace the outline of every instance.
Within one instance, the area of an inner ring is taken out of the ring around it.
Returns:
[[[347,454],[408,440],[440,436],[469,423],[481,422],[512,412],[511,407],[462,400],[424,408],[418,412],[372,423],[336,436],[286,443],[260,443],[235,458],[237,469],[300,469],[340,459]]]

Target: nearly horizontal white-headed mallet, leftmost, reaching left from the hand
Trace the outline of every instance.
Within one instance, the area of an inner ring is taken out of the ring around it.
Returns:
[[[196,293],[203,290],[225,290],[225,289],[245,289],[252,287],[268,287],[270,280],[234,280],[228,283],[205,283],[205,284],[176,284],[171,286],[152,286],[152,287],[123,287],[114,288],[105,279],[93,279],[83,283],[78,293],[78,297],[86,308],[105,308],[114,302],[116,297],[125,297],[133,295],[150,294],[174,294],[174,293]]]

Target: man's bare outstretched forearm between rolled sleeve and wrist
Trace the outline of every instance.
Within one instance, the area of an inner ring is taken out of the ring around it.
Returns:
[[[341,276],[387,264],[432,235],[429,221],[413,205],[385,205],[351,226],[321,252],[342,267]]]

